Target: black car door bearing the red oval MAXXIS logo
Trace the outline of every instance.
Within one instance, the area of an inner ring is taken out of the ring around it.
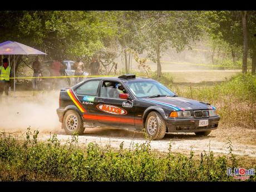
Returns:
[[[132,100],[120,99],[115,87],[105,87],[102,81],[99,95],[95,99],[93,114],[99,122],[105,124],[134,125],[134,107]],[[110,81],[107,81],[110,82]],[[115,81],[112,81],[115,83]],[[120,83],[117,82],[116,83]]]

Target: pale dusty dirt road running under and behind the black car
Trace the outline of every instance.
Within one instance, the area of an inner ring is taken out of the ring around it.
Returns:
[[[12,132],[21,137],[26,137],[27,127],[39,130],[38,139],[47,141],[51,134],[57,134],[58,139],[66,142],[68,136],[61,129],[58,122],[56,109],[58,107],[58,92],[40,93],[31,97],[10,97],[6,105],[1,105],[2,118],[0,131]],[[21,93],[16,93],[21,95]],[[256,130],[244,127],[220,126],[209,136],[196,136],[195,134],[166,134],[163,140],[151,141],[151,148],[159,151],[168,151],[170,140],[172,150],[189,153],[191,149],[196,153],[209,151],[228,154],[227,137],[233,142],[233,153],[256,157]],[[129,147],[131,142],[141,144],[145,142],[144,135],[140,132],[113,129],[86,129],[78,137],[82,143],[97,142],[101,146],[111,145],[119,147],[124,141],[124,147]]]

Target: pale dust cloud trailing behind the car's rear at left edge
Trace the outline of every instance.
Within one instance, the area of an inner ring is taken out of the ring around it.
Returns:
[[[62,132],[56,113],[59,93],[17,91],[8,98],[1,96],[0,131],[24,132],[30,126],[32,131]]]

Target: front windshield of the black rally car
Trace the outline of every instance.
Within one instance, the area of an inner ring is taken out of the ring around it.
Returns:
[[[126,81],[125,84],[138,98],[175,96],[174,92],[157,81]]]

